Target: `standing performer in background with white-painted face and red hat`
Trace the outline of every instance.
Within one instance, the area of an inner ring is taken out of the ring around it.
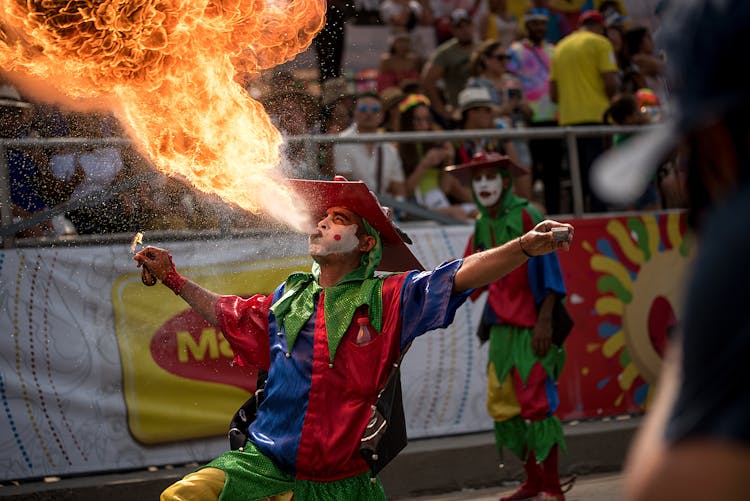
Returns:
[[[528,200],[513,193],[511,173],[520,169],[507,156],[479,153],[446,170],[471,186],[480,212],[464,255],[517,238],[522,245],[521,236],[544,219]],[[555,411],[565,350],[552,343],[552,309],[565,296],[565,283],[557,255],[530,257],[486,290],[477,335],[482,343],[490,342],[487,412],[494,421],[498,452],[502,456],[503,448],[510,449],[525,473],[521,486],[500,501],[563,501],[558,451],[565,450],[565,438]]]

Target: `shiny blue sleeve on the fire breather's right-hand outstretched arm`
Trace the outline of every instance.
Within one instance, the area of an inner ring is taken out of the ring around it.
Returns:
[[[431,271],[411,272],[401,286],[401,349],[427,331],[447,327],[472,290],[453,293],[463,259]]]

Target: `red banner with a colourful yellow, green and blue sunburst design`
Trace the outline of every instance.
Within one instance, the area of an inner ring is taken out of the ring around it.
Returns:
[[[642,412],[679,318],[691,248],[684,213],[568,221],[560,260],[575,327],[559,381],[563,420]]]

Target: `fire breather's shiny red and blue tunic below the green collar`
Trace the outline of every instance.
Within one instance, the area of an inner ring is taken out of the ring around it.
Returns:
[[[297,479],[333,481],[368,471],[359,439],[371,405],[404,347],[453,321],[467,297],[452,293],[460,266],[457,260],[433,271],[381,278],[381,331],[358,345],[358,319],[367,318],[368,311],[366,305],[357,308],[332,361],[323,314],[325,290],[317,293],[313,314],[293,346],[270,309],[284,294],[284,284],[270,296],[221,297],[216,305],[219,327],[236,362],[268,370],[249,441]]]

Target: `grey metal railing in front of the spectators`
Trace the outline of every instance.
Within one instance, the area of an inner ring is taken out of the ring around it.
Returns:
[[[564,141],[567,152],[567,163],[570,172],[571,190],[572,190],[572,209],[575,217],[584,215],[584,200],[581,184],[581,170],[578,158],[578,149],[576,139],[578,137],[606,137],[613,134],[631,134],[652,130],[658,126],[576,126],[576,127],[539,127],[523,129],[476,129],[476,130],[446,130],[433,132],[397,132],[383,134],[360,134],[356,136],[341,137],[338,135],[307,135],[307,136],[289,136],[285,141],[289,144],[303,143],[305,145],[305,158],[310,164],[318,161],[318,148],[321,144],[334,143],[379,143],[379,142],[420,142],[420,141],[460,141],[469,139],[503,139],[503,140],[529,140],[529,139],[561,139]],[[0,237],[2,237],[3,247],[13,248],[16,246],[48,246],[53,243],[102,243],[102,242],[121,242],[127,241],[131,235],[110,234],[96,236],[73,236],[65,237],[58,241],[57,239],[23,239],[17,240],[14,235],[27,227],[31,227],[41,221],[45,221],[58,214],[81,207],[88,203],[106,200],[108,197],[120,193],[124,190],[137,185],[142,179],[138,177],[130,178],[116,185],[110,186],[106,191],[88,196],[82,199],[69,200],[55,207],[46,208],[39,213],[25,218],[21,221],[13,221],[11,211],[10,180],[7,164],[8,148],[34,148],[34,147],[91,147],[91,146],[130,146],[131,141],[121,138],[25,138],[25,139],[7,139],[0,138]],[[562,158],[560,159],[562,162]],[[453,224],[457,220],[453,218],[435,214],[432,211],[424,209],[413,203],[402,202],[392,197],[381,196],[381,202],[393,207],[396,210],[416,215],[420,218],[433,220],[440,224]],[[252,232],[252,230],[251,230]],[[184,238],[184,235],[174,234],[166,231],[162,232],[166,239]],[[206,231],[191,232],[194,235],[207,236]],[[225,232],[224,232],[225,233]],[[241,232],[247,234],[248,231]],[[27,241],[26,241],[27,240]]]

